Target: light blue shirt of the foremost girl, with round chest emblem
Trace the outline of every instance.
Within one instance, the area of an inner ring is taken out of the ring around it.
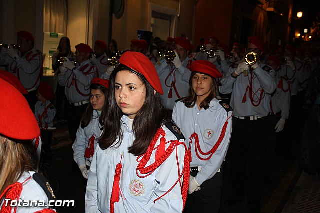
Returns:
[[[166,193],[179,179],[186,152],[184,146],[178,145],[177,151],[174,150],[152,174],[140,178],[136,174],[137,156],[128,152],[128,147],[134,141],[134,132],[130,129],[127,118],[127,116],[123,116],[121,119],[121,129],[123,131],[121,145],[109,147],[105,150],[97,146],[94,152],[86,187],[85,213],[110,212],[115,168],[120,161],[122,164],[119,181],[121,193],[119,202],[114,203],[115,213],[181,213],[183,201],[179,183],[155,203],[153,201]],[[165,126],[162,126],[162,129],[165,131],[166,141],[177,139]],[[160,138],[155,146],[159,145]],[[182,139],[180,141],[182,142]],[[166,144],[166,148],[169,144]],[[154,152],[146,167],[154,163]],[[121,155],[123,155],[122,160]],[[183,176],[180,181],[182,183]]]

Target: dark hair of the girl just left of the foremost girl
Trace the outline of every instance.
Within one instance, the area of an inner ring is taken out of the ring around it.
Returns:
[[[106,87],[102,86],[101,84],[91,84],[90,89],[99,89],[104,94],[105,99],[104,99],[104,105],[103,105],[103,109],[102,109],[102,113],[103,113],[103,111],[105,110],[105,106],[107,104],[107,101],[108,101],[108,89]],[[93,109],[92,105],[88,104],[84,114],[82,115],[81,128],[87,127],[87,125],[89,125],[90,121],[93,119],[93,110],[94,109]],[[100,123],[101,127],[103,127],[102,116],[100,116],[100,118],[99,118],[99,123]]]

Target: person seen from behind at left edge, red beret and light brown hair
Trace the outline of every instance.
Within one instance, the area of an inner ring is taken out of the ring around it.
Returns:
[[[38,123],[14,86],[1,78],[0,85],[0,212],[56,213],[47,209],[53,191],[32,162]]]

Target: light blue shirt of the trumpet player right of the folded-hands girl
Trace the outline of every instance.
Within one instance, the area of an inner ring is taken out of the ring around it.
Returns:
[[[267,116],[270,112],[270,100],[271,94],[276,88],[275,72],[270,70],[269,72],[262,69],[264,64],[260,63],[257,68],[253,70],[253,80],[252,80],[252,91],[253,101],[258,104],[261,100],[260,94],[262,89],[264,93],[262,95],[262,100],[258,106],[254,106],[249,98],[249,91],[246,92],[247,86],[249,85],[249,79],[251,74],[244,76],[241,73],[237,78],[231,77],[231,70],[229,74],[221,79],[221,86],[219,86],[219,91],[223,94],[231,94],[230,105],[233,108],[234,116]],[[230,69],[232,69],[230,67]],[[242,103],[243,96],[246,94],[246,101]]]

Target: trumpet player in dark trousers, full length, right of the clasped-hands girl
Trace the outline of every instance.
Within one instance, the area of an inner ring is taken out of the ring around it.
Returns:
[[[261,208],[262,165],[267,146],[271,94],[276,88],[275,72],[260,62],[265,44],[258,37],[248,37],[246,53],[256,54],[256,62],[242,62],[230,68],[230,74],[222,79],[220,92],[231,93],[233,127],[229,147],[231,160],[232,196],[224,203],[233,205],[248,197],[250,211]],[[251,69],[250,69],[251,66]],[[244,76],[243,72],[248,71]],[[247,172],[246,172],[247,171]],[[247,183],[247,185],[246,185]]]

